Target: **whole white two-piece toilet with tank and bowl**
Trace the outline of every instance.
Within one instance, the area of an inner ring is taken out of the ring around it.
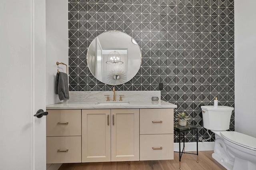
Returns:
[[[204,128],[215,134],[212,158],[228,170],[256,170],[256,138],[229,129],[233,107],[201,106]]]

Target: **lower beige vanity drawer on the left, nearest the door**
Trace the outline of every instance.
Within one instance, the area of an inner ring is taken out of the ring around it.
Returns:
[[[46,164],[77,162],[81,162],[81,136],[46,137]]]

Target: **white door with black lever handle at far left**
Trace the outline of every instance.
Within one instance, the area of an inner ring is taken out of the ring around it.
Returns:
[[[0,169],[46,169],[45,0],[0,0]]]

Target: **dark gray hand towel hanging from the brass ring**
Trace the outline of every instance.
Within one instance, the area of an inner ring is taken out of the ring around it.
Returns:
[[[60,100],[69,99],[68,75],[66,73],[59,72],[59,73],[56,74],[55,94],[59,95]]]

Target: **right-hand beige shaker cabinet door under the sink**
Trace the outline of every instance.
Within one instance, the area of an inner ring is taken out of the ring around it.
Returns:
[[[111,109],[111,161],[139,160],[139,109]]]

